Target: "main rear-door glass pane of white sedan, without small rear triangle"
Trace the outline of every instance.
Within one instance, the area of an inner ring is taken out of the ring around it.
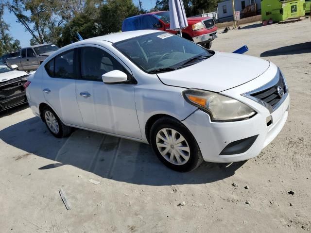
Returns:
[[[62,53],[55,57],[54,62],[54,77],[55,78],[74,78],[73,72],[73,50]]]

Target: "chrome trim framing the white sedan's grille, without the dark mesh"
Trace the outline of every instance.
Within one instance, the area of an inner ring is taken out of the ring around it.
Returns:
[[[262,100],[259,100],[253,96],[251,96],[252,94],[255,94],[255,93],[258,93],[258,92],[261,92],[261,91],[264,91],[264,90],[267,90],[269,88],[272,88],[273,86],[276,85],[276,83],[279,82],[280,78],[283,79],[283,83],[284,83],[284,95],[283,97],[281,98],[280,101],[277,102],[277,104],[272,107],[270,104],[262,101]],[[276,73],[276,76],[269,82],[269,83],[266,83],[264,84],[263,86],[260,86],[259,88],[253,90],[253,91],[250,91],[250,92],[246,92],[246,93],[243,93],[241,94],[243,97],[246,97],[248,99],[251,99],[251,100],[254,100],[256,101],[257,103],[261,104],[262,106],[266,107],[270,114],[273,113],[283,102],[284,100],[287,98],[288,96],[288,85],[287,85],[287,82],[284,78],[284,75],[283,73],[281,72],[281,70],[279,68],[277,68],[277,73]]]

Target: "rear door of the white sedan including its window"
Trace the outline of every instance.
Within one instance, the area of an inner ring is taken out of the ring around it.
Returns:
[[[83,127],[75,92],[78,77],[76,51],[67,50],[45,65],[42,91],[45,100],[65,124]]]

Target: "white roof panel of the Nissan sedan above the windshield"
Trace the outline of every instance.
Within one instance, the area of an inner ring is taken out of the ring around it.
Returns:
[[[94,40],[95,41],[104,40],[104,41],[108,41],[111,43],[117,43],[119,41],[131,39],[131,38],[138,37],[141,35],[147,35],[147,34],[159,33],[159,32],[161,31],[159,30],[138,30],[138,31],[129,31],[129,32],[122,32],[122,33],[112,33],[108,35],[102,35],[102,36],[89,38],[83,41],[90,42]]]

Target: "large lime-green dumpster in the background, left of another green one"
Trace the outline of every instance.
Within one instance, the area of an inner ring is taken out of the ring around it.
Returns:
[[[274,22],[279,22],[305,15],[305,0],[261,0],[262,21],[272,19]]]

